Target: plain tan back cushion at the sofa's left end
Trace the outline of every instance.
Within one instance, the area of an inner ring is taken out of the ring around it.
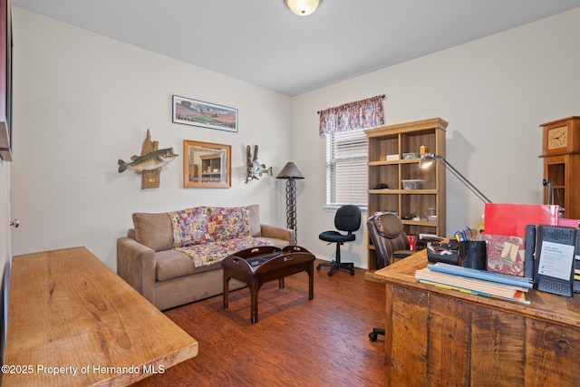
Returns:
[[[171,248],[173,235],[171,233],[171,219],[167,213],[136,212],[132,218],[137,242],[155,251]]]

